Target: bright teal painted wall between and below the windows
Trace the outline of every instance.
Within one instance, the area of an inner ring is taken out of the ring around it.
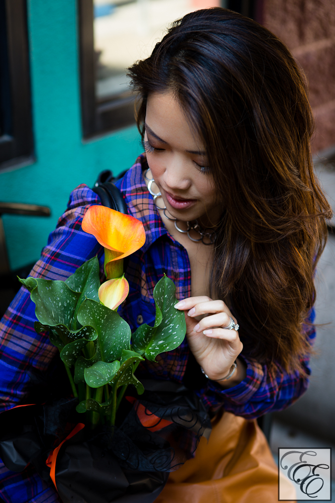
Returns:
[[[52,216],[3,216],[12,269],[39,258],[74,187],[141,152],[135,127],[82,141],[76,0],[28,0],[28,30],[36,162],[0,174],[0,200],[46,205]]]

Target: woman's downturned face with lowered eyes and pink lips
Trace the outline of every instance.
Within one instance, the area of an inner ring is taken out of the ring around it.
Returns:
[[[169,213],[178,220],[216,223],[221,211],[204,145],[172,93],[149,96],[145,131],[148,165]]]

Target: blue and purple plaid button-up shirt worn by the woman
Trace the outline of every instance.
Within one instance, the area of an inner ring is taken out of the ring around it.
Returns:
[[[151,323],[155,318],[153,289],[166,274],[176,285],[179,300],[191,296],[190,264],[185,248],[167,232],[145,185],[142,170],[145,156],[141,155],[126,175],[117,182],[129,208],[129,213],[142,220],[146,242],[133,254],[126,276],[130,293],[119,308],[120,314],[132,330],[139,321]],[[97,255],[103,270],[103,248],[96,239],[83,232],[81,221],[87,208],[99,204],[98,196],[86,185],[80,185],[70,195],[66,212],[60,217],[56,229],[50,234],[41,259],[31,276],[65,280],[86,260]],[[0,323],[0,396],[1,411],[17,405],[30,386],[30,373],[36,369],[46,371],[58,351],[50,344],[47,333],[34,330],[35,304],[29,292],[21,288]],[[313,313],[309,319],[313,321]],[[314,328],[307,336],[314,339]],[[185,340],[177,349],[157,357],[158,362],[144,362],[139,373],[158,379],[182,382],[189,356]],[[222,389],[210,380],[197,394],[209,408],[224,406],[247,419],[258,417],[269,410],[280,410],[294,402],[307,388],[308,380],[298,373],[287,374],[280,366],[276,374],[269,373],[265,365],[242,354],[247,365],[247,376],[237,386]],[[304,361],[310,373],[308,361]],[[11,503],[51,503],[58,501],[54,488],[49,487],[33,468],[21,473],[8,470],[0,463],[0,494]]]

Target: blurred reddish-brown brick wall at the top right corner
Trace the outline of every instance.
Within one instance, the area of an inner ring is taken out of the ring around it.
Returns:
[[[335,0],[264,0],[262,17],[307,75],[313,153],[335,147]]]

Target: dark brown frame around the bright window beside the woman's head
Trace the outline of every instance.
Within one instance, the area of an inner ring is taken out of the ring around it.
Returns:
[[[93,0],[77,0],[82,132],[85,139],[135,124],[131,91],[96,99]]]

